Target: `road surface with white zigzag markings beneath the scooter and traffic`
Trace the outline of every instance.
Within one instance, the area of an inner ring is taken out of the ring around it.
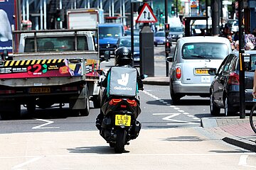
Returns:
[[[161,47],[158,49],[161,51]],[[159,74],[165,74],[164,57]],[[110,63],[105,63],[110,64]],[[114,154],[95,128],[99,109],[90,103],[90,115],[63,109],[36,110],[32,118],[1,120],[0,169],[255,169],[256,154],[227,145],[200,127],[209,117],[209,99],[182,98],[173,105],[169,86],[145,85],[140,92],[142,130]],[[26,109],[22,108],[23,115]]]

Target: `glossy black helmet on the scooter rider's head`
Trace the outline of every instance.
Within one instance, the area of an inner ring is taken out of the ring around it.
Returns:
[[[128,65],[132,62],[132,52],[127,47],[119,47],[114,51],[116,65]]]

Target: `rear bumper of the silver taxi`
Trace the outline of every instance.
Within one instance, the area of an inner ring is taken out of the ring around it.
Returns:
[[[210,94],[210,84],[183,84],[173,81],[174,93],[177,94]]]

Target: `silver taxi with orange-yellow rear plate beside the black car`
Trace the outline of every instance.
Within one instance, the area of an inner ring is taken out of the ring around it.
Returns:
[[[183,96],[210,95],[210,83],[213,81],[209,69],[218,69],[223,59],[232,52],[227,38],[186,37],[179,38],[169,72],[170,94],[173,103]]]

